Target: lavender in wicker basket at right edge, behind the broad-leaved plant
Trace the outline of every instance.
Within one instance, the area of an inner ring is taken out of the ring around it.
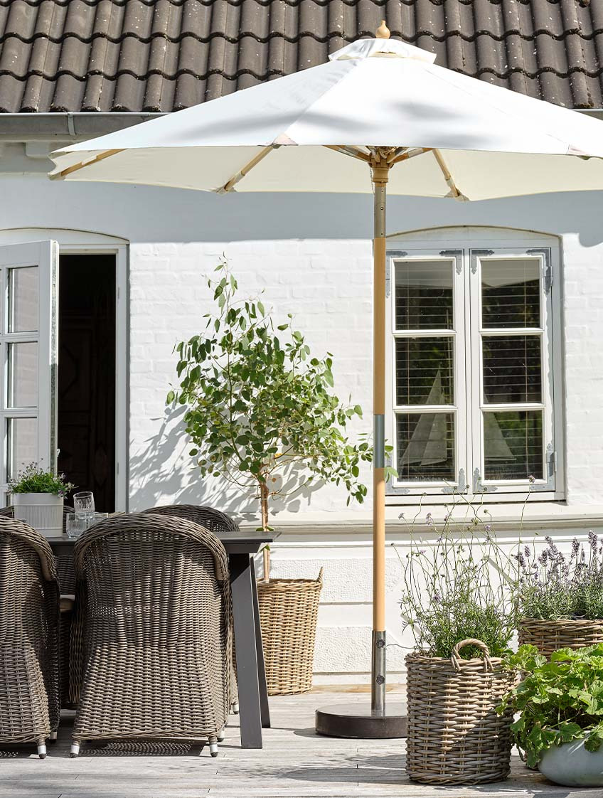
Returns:
[[[603,547],[591,530],[585,546],[573,539],[564,555],[550,537],[537,555],[523,547],[520,567],[520,645],[546,657],[561,648],[603,642]]]

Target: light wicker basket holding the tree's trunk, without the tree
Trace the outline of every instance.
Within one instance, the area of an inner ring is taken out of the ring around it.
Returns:
[[[322,568],[318,579],[258,581],[268,694],[305,693],[312,666]]]

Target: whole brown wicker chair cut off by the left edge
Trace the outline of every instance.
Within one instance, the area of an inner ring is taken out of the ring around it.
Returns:
[[[35,742],[59,724],[59,587],[53,552],[26,523],[0,518],[0,743]]]

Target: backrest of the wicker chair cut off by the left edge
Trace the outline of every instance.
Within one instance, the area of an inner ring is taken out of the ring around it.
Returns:
[[[53,552],[39,532],[0,517],[0,638],[33,641],[57,627],[59,589]]]

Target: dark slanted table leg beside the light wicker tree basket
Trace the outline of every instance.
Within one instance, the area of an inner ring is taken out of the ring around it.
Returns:
[[[248,554],[231,554],[232,610],[235,621],[241,747],[262,748],[262,713],[255,642],[254,590]]]

